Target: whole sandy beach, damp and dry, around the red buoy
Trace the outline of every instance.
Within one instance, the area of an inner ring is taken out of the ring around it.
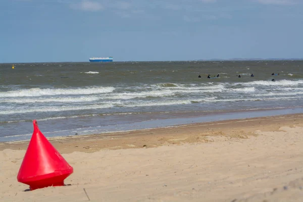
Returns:
[[[303,114],[49,140],[74,168],[67,186],[25,191],[17,173],[28,141],[3,142],[1,201],[303,198]]]

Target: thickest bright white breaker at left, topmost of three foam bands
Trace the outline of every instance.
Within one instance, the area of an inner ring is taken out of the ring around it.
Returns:
[[[23,90],[10,90],[0,92],[0,97],[35,97],[43,95],[77,95],[77,94],[95,94],[113,92],[114,87],[87,87],[87,88],[30,88]]]

